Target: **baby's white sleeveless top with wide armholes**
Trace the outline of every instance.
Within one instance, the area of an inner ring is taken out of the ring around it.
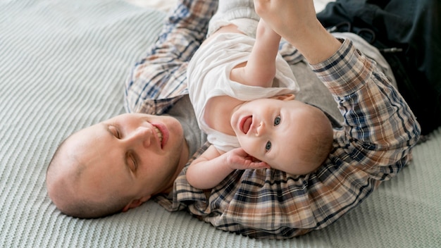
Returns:
[[[240,147],[235,136],[213,130],[204,121],[206,103],[211,97],[229,96],[241,101],[297,94],[299,86],[288,63],[278,54],[273,87],[242,85],[230,80],[230,71],[248,61],[255,39],[237,33],[221,33],[204,44],[192,57],[187,68],[188,91],[199,128],[217,149],[229,151]]]

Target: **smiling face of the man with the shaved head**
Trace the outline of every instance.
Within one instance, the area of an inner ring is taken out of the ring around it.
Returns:
[[[169,190],[178,165],[188,159],[182,126],[169,116],[123,114],[80,130],[68,141],[65,150],[78,161],[73,164],[83,167],[70,168],[81,171],[77,192],[94,199],[124,194],[141,204]]]

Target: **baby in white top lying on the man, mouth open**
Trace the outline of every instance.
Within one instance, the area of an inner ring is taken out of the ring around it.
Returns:
[[[330,121],[294,100],[299,87],[278,54],[280,36],[259,20],[253,1],[229,4],[220,1],[187,68],[199,128],[212,144],[190,164],[188,182],[207,189],[235,169],[316,170],[333,142]]]

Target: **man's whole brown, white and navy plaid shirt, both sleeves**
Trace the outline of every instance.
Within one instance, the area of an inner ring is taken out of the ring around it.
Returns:
[[[128,81],[129,110],[161,114],[187,94],[187,61],[204,39],[215,10],[216,1],[192,1],[170,14],[159,42]],[[289,63],[302,59],[289,44],[280,49]],[[397,175],[409,161],[420,133],[400,94],[348,39],[336,54],[311,68],[344,116],[323,166],[308,175],[272,169],[234,171],[206,191],[187,182],[186,167],[173,192],[156,197],[156,202],[168,211],[190,211],[221,230],[282,239],[330,225],[358,206],[380,182]]]

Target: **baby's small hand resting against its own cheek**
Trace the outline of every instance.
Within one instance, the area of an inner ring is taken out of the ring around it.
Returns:
[[[268,163],[257,161],[249,156],[244,149],[236,148],[228,151],[226,154],[228,166],[236,170],[271,168]]]

